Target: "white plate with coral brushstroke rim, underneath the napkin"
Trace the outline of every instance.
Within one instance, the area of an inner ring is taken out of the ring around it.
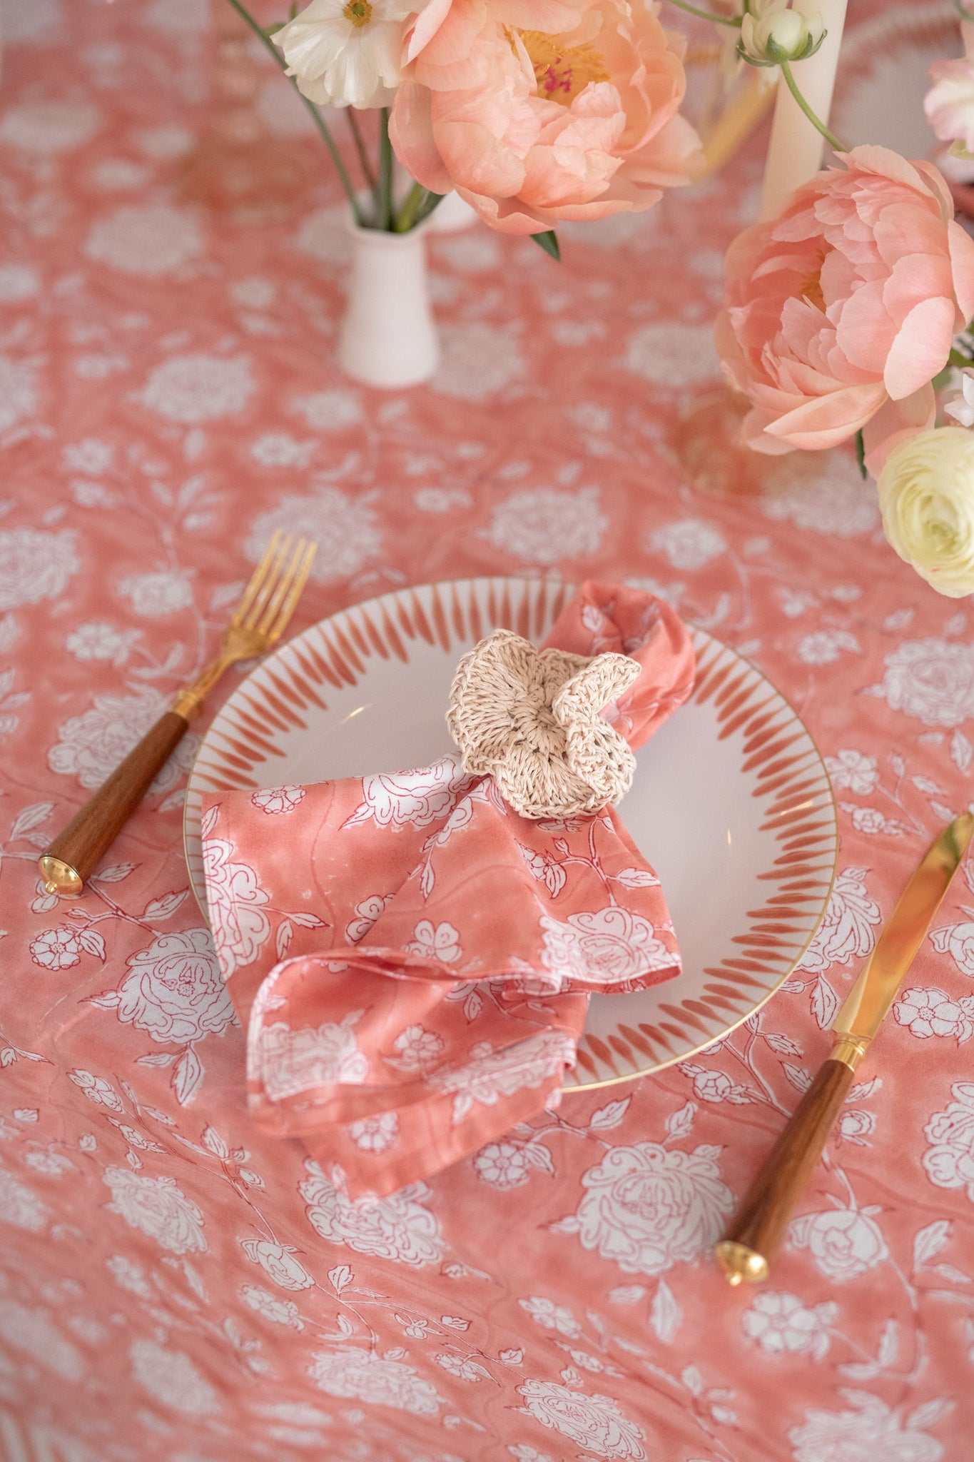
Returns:
[[[298,635],[206,732],[185,798],[185,857],[206,911],[200,800],[229,788],[425,766],[453,743],[460,655],[504,626],[540,640],[572,586],[464,579],[400,589]],[[637,753],[622,816],[654,866],[683,972],[594,996],[568,1089],[685,1060],[752,1015],[818,928],[835,873],[835,804],[812,737],[764,675],[692,630],[692,697]]]

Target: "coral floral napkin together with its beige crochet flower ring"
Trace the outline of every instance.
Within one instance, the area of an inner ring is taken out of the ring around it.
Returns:
[[[588,996],[680,968],[659,879],[615,810],[548,813],[552,798],[574,807],[624,787],[628,749],[686,699],[682,621],[651,595],[590,582],[549,654],[515,639],[486,642],[486,712],[470,658],[460,664],[450,724],[463,757],[204,798],[210,921],[247,1031],[253,1114],[301,1136],[352,1197],[415,1183],[556,1107]],[[593,711],[613,684],[626,689]],[[548,779],[511,770],[502,744],[532,706],[568,744]],[[486,765],[495,775],[479,775]],[[527,806],[534,782],[533,816],[498,791]]]

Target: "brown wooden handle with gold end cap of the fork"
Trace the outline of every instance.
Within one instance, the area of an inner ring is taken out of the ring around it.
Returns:
[[[139,746],[115,768],[93,797],[57,835],[39,858],[50,893],[80,893],[85,879],[111,846],[146,794],[153,776],[180,744],[190,722],[166,711]]]

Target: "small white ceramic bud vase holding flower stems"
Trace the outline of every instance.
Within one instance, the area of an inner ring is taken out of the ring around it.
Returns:
[[[426,225],[407,234],[349,227],[352,273],[339,364],[365,386],[418,386],[440,364],[426,282]]]

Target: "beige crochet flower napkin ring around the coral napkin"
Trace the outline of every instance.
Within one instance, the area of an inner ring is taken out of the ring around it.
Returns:
[[[523,817],[565,819],[615,806],[635,756],[602,715],[641,674],[629,655],[587,659],[494,630],[457,665],[447,727],[463,768],[492,776]]]

